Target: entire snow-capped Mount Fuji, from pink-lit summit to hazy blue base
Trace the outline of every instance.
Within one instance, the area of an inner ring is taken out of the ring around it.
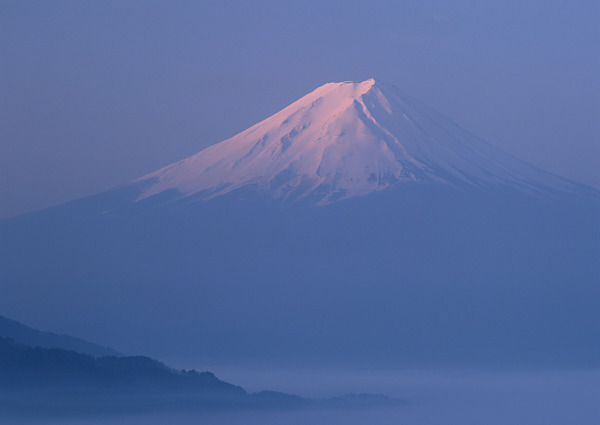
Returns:
[[[598,367],[599,216],[393,86],[330,83],[0,221],[0,312],[195,367]]]

